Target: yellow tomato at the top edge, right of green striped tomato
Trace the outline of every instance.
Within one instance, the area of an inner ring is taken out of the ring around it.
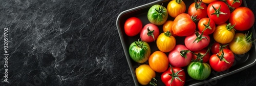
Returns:
[[[186,5],[182,0],[170,1],[167,5],[167,12],[170,16],[176,17],[181,13],[185,13]]]

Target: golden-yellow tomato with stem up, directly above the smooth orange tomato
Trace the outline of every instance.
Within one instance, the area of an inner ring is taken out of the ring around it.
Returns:
[[[157,48],[162,52],[170,52],[176,45],[176,39],[169,31],[161,33],[157,38]]]

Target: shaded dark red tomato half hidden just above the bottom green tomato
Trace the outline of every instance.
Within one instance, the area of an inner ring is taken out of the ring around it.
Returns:
[[[195,51],[194,52],[195,54],[198,54],[199,55],[199,58],[202,58],[203,59],[203,62],[207,62],[210,58],[210,54],[209,52],[207,52],[206,49],[202,49],[202,50],[199,50],[199,51]],[[199,54],[200,53],[200,54]],[[206,53],[206,54],[205,54]],[[198,56],[197,55],[193,55],[193,60],[200,60],[200,59],[197,59]],[[205,54],[205,56],[203,56]],[[200,56],[201,55],[201,56]],[[202,57],[203,56],[203,57]]]

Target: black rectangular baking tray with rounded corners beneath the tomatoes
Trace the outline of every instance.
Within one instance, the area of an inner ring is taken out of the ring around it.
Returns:
[[[142,6],[138,6],[129,10],[125,10],[123,12],[121,12],[118,17],[117,17],[117,30],[120,36],[120,40],[121,40],[121,44],[124,50],[124,54],[126,57],[126,60],[129,64],[130,70],[131,70],[131,74],[134,80],[135,85],[141,85],[138,83],[137,79],[136,79],[136,75],[135,75],[135,69],[141,65],[141,63],[137,63],[135,61],[133,61],[129,55],[129,46],[132,44],[132,42],[138,40],[140,38],[139,35],[133,36],[133,37],[129,37],[124,33],[124,23],[125,20],[130,18],[130,17],[138,17],[142,20],[142,24],[143,26],[145,26],[146,24],[150,23],[147,19],[147,11],[148,9],[156,4],[163,4],[164,7],[167,7],[167,4],[170,2],[169,1],[155,1],[152,3],[148,3]],[[189,5],[191,3],[193,3],[194,1],[191,0],[183,0],[183,2],[186,4],[186,8],[188,9]],[[247,7],[246,5],[246,1],[243,0],[242,6]],[[186,10],[187,10],[186,9]],[[186,11],[187,12],[187,11]],[[174,20],[174,18],[168,16],[167,20]],[[162,26],[158,26],[160,33],[162,32]],[[255,30],[254,27],[251,27],[250,32],[253,33],[253,38],[256,38],[256,34],[255,34]],[[239,31],[237,31],[239,32]],[[243,31],[242,33],[247,33],[247,31]],[[176,37],[177,40],[177,44],[183,44],[184,45],[184,37]],[[156,43],[155,42],[150,42],[148,43],[151,47],[151,53],[153,53],[154,51],[157,51],[158,48],[155,46]],[[176,45],[177,45],[176,44]],[[256,42],[254,41],[252,43],[252,48],[250,49],[250,51],[246,54],[243,55],[235,55],[235,62],[234,65],[227,71],[224,72],[215,72],[215,71],[211,71],[210,76],[206,79],[206,80],[194,80],[192,78],[190,78],[187,74],[186,74],[186,82],[185,85],[201,85],[201,84],[211,84],[210,81],[216,81],[220,78],[229,76],[231,74],[235,74],[237,72],[240,72],[242,70],[245,70],[253,65],[255,65],[256,63],[256,51],[255,51],[255,47],[256,47]],[[153,46],[151,46],[153,45]],[[167,53],[166,53],[167,55]],[[147,62],[145,62],[147,64]],[[142,63],[143,64],[143,63]],[[183,68],[186,71],[186,68]],[[161,73],[157,73],[156,72],[156,79],[158,80],[158,85],[164,85],[161,81]]]

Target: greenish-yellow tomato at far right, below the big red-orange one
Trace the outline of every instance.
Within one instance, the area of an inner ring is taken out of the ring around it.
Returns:
[[[252,33],[236,33],[233,40],[229,42],[229,48],[234,54],[245,54],[251,49],[251,42],[253,42],[251,39]]]

